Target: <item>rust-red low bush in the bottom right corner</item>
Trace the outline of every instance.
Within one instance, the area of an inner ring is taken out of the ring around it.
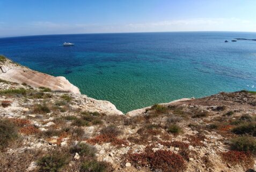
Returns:
[[[253,167],[254,160],[252,156],[245,152],[240,151],[228,151],[222,153],[222,159],[231,165],[241,164],[246,167]]]

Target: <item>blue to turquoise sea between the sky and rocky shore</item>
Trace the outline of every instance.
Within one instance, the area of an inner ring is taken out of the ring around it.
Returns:
[[[255,39],[256,33],[10,37],[0,38],[0,54],[36,71],[65,76],[83,94],[128,112],[220,91],[256,91],[256,41],[233,38]],[[75,46],[62,46],[65,41]]]

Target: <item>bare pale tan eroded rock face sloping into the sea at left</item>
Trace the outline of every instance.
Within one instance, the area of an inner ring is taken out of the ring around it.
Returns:
[[[52,90],[70,91],[74,93],[81,93],[79,89],[71,84],[63,76],[51,76],[41,72],[33,71],[30,68],[14,64],[11,60],[6,59],[4,64],[0,64],[5,73],[0,72],[0,79],[16,82],[26,83],[32,87],[47,87]]]

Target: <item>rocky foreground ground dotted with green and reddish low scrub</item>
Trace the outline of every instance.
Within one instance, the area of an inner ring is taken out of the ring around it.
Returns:
[[[85,95],[1,80],[0,170],[253,171],[255,98],[221,92],[128,116]]]

